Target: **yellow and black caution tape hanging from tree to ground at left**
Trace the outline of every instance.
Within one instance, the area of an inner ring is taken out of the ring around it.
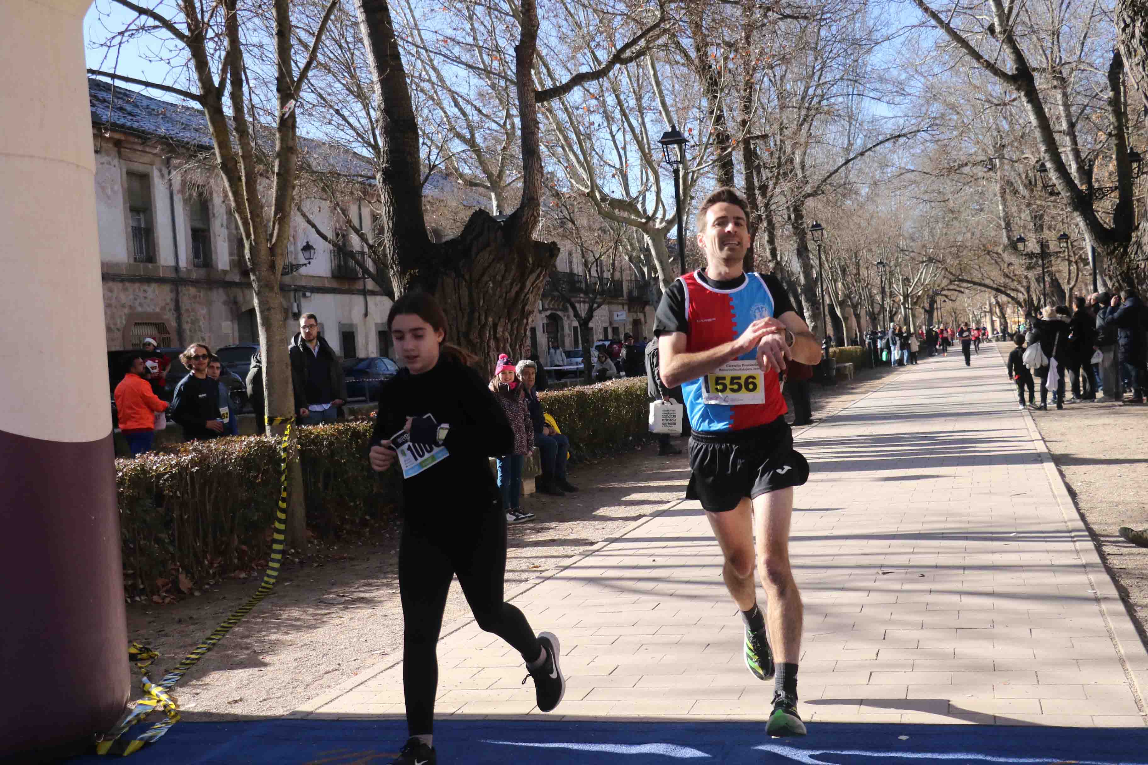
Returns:
[[[157,741],[171,728],[171,726],[178,723],[179,707],[176,704],[174,700],[168,695],[168,692],[171,690],[172,686],[183,679],[184,674],[187,673],[187,670],[195,666],[195,664],[203,658],[208,651],[215,648],[216,643],[223,640],[224,637],[259,603],[259,601],[267,596],[271,588],[276,586],[276,580],[279,578],[279,565],[282,563],[284,559],[284,540],[287,532],[287,447],[290,439],[290,427],[293,422],[295,422],[295,417],[267,417],[267,424],[278,426],[286,423],[287,429],[284,431],[282,443],[279,446],[279,456],[281,462],[279,473],[279,509],[276,510],[276,526],[274,532],[271,534],[271,557],[267,561],[267,571],[263,575],[263,584],[259,585],[259,588],[255,591],[255,594],[251,595],[246,603],[232,611],[231,615],[223,620],[223,624],[217,626],[215,631],[208,635],[207,640],[201,642],[192,653],[185,656],[184,661],[181,661],[171,672],[168,672],[168,674],[165,674],[160,682],[152,682],[152,680],[148,679],[146,670],[146,668],[158,657],[158,654],[139,643],[132,643],[127,647],[129,658],[135,662],[135,665],[142,672],[144,677],[140,684],[144,687],[145,696],[135,702],[135,707],[124,713],[119,723],[116,724],[116,727],[99,736],[95,743],[95,752],[98,755],[121,755],[126,757],[127,755],[142,749],[145,744]],[[156,710],[156,708],[162,709],[168,716],[168,719],[156,723],[137,739],[123,737],[124,733],[127,732],[127,728],[135,723],[142,723],[148,715]]]

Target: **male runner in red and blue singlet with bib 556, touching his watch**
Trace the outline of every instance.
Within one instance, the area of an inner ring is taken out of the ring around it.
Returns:
[[[790,571],[789,530],[793,486],[806,482],[809,463],[793,450],[777,375],[789,359],[817,364],[821,346],[777,279],[742,270],[746,217],[731,188],[701,203],[698,245],[706,267],[666,290],[654,334],[662,382],[682,385],[693,428],[687,497],[701,501],[726,557],[722,578],[745,622],[745,663],[760,680],[774,677],[767,732],[805,735],[797,713],[801,594]]]

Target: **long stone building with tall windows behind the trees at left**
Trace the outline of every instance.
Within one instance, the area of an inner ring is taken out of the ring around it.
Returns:
[[[88,95],[108,349],[140,348],[145,337],[164,348],[193,341],[211,348],[257,343],[242,242],[225,195],[218,185],[202,182],[203,173],[196,178],[185,167],[191,155],[211,150],[202,112],[94,78],[88,79]],[[365,159],[338,147],[308,139],[300,145],[312,161],[320,157],[336,171],[372,174]],[[439,173],[428,179],[424,195],[430,234],[440,241],[461,231],[474,209],[490,205],[481,192]],[[338,233],[327,200],[302,198],[301,205],[320,228]],[[347,209],[359,228],[370,229],[369,204],[350,201]],[[281,281],[293,317],[288,329],[297,331],[301,313],[315,313],[327,342],[343,357],[390,356],[390,298],[302,217],[293,218],[290,231],[297,271]],[[587,292],[602,291],[592,278],[576,273],[571,248],[559,245],[558,270],[529,333],[536,352],[545,350],[550,338],[563,348],[581,345],[577,321],[559,284],[581,304]],[[623,263],[605,291],[606,303],[591,325],[595,339],[626,333],[652,336],[654,284],[636,279]]]

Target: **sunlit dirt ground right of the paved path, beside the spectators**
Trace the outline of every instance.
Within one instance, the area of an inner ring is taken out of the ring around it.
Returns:
[[[1148,549],[1116,533],[1120,526],[1148,528],[1148,406],[1065,404],[1032,415],[1148,645]]]

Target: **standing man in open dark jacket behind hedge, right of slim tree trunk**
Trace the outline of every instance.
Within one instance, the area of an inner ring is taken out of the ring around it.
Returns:
[[[298,333],[288,353],[300,424],[334,422],[339,407],[347,403],[347,381],[339,357],[319,336],[319,320],[313,313],[300,317]]]

